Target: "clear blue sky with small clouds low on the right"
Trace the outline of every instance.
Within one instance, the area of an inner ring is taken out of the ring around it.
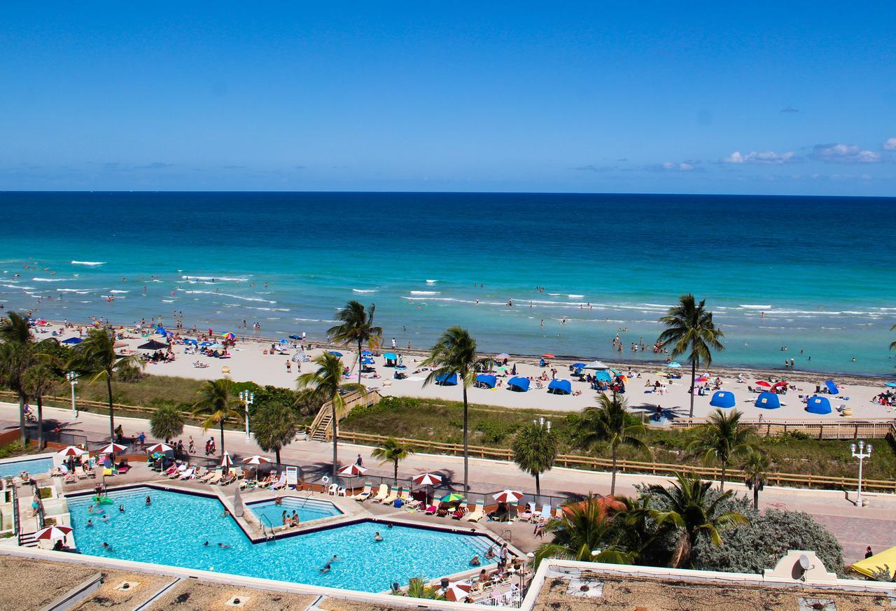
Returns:
[[[124,4],[4,7],[0,189],[896,194],[886,2]]]

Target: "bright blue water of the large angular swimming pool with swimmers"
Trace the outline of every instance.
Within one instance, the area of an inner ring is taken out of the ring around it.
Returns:
[[[68,499],[82,554],[375,592],[389,589],[392,581],[403,585],[411,577],[436,579],[470,569],[470,558],[481,557],[491,545],[481,535],[399,525],[389,529],[370,521],[253,544],[233,518],[222,515],[216,498],[147,486],[109,496],[114,502],[92,513],[91,495]],[[119,503],[124,513],[118,512]],[[103,512],[108,523],[101,519]],[[383,541],[373,540],[377,531]],[[102,546],[104,541],[111,549]],[[322,574],[319,569],[333,555],[340,559]]]

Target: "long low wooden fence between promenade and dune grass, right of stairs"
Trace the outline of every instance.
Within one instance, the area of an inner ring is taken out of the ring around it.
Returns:
[[[896,435],[896,429],[893,434]],[[388,437],[385,435],[372,435],[368,433],[352,433],[340,431],[340,439],[349,443],[361,445],[379,445]],[[397,441],[418,448],[426,452],[437,454],[461,455],[463,446],[460,443],[440,443],[423,439],[398,438]],[[509,448],[487,448],[481,445],[470,445],[470,456],[476,458],[513,460],[513,451]],[[554,461],[558,467],[572,467],[573,469],[607,470],[613,466],[609,459],[585,456],[582,454],[559,454]],[[642,462],[637,460],[617,460],[616,469],[621,473],[649,473],[650,475],[674,475],[675,473],[693,473],[706,479],[719,479],[721,469],[718,467],[704,467],[701,465],[672,464],[663,462]],[[725,473],[728,481],[743,479],[743,473],[737,469],[728,469]],[[822,476],[799,473],[770,473],[769,483],[776,486],[805,486],[824,488],[852,489],[858,486],[857,478],[841,478],[836,476]],[[896,481],[886,479],[862,478],[862,486],[867,490],[881,490],[896,492]]]

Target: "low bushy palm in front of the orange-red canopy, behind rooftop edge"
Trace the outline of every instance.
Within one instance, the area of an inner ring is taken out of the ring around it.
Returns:
[[[597,501],[594,495],[588,495],[581,503],[565,506],[563,517],[547,522],[545,532],[554,538],[535,550],[536,564],[545,558],[632,564],[630,552],[610,545],[613,522]]]

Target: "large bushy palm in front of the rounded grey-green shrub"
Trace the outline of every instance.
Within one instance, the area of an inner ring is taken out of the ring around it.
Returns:
[[[682,568],[690,564],[691,550],[701,534],[709,536],[712,545],[720,546],[722,538],[719,529],[744,524],[747,521],[737,512],[719,513],[719,503],[727,500],[733,492],[728,490],[715,500],[709,501],[706,493],[711,486],[711,482],[704,482],[681,473],[676,473],[676,480],[668,488],[659,484],[650,486],[650,492],[666,499],[669,505],[666,511],[654,512],[657,523],[669,522],[681,529],[678,545],[670,563],[673,568]]]

